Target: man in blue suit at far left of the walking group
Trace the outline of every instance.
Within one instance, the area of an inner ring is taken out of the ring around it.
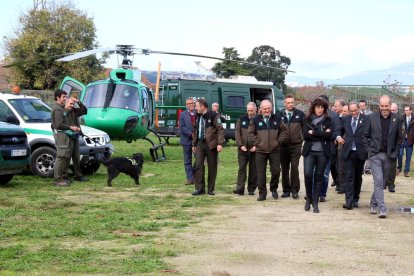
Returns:
[[[195,125],[195,102],[188,98],[185,102],[187,110],[180,114],[180,144],[183,147],[184,169],[187,176],[186,185],[194,184],[193,177],[193,127]]]

